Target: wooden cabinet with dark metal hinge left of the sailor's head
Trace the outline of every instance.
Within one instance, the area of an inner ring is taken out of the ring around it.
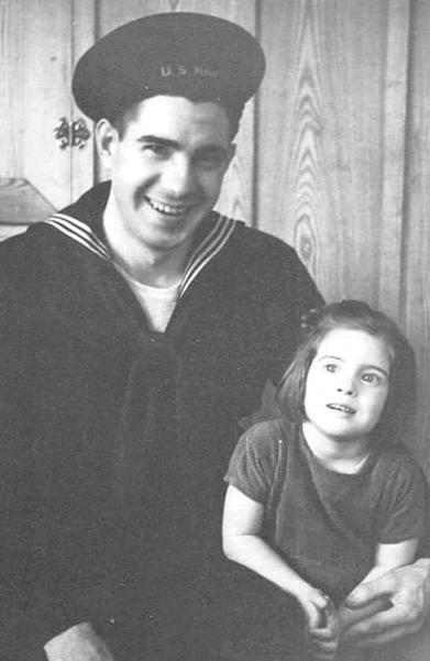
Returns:
[[[62,150],[54,136],[62,118],[77,117],[71,71],[93,40],[93,3],[13,0],[1,7],[0,176],[23,179],[60,208],[88,186],[93,170],[91,141]]]

